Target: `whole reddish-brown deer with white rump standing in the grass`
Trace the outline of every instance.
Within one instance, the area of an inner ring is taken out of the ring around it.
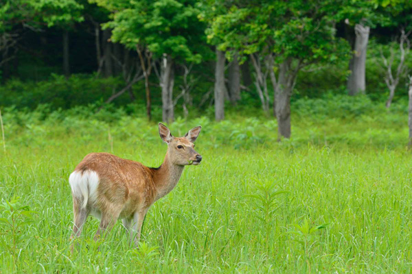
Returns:
[[[122,219],[130,240],[137,245],[150,206],[172,191],[186,165],[201,163],[202,156],[193,145],[201,128],[194,127],[184,137],[176,138],[159,123],[159,134],[168,143],[168,151],[158,168],[109,153],[84,157],[69,177],[74,212],[71,239],[80,236],[87,216],[92,214],[101,219],[95,240],[109,231],[117,219]]]

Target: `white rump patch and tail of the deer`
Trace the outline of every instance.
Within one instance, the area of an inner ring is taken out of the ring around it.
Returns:
[[[95,171],[73,171],[69,177],[69,184],[73,196],[83,201],[82,208],[87,203],[95,203],[98,197],[99,176]]]

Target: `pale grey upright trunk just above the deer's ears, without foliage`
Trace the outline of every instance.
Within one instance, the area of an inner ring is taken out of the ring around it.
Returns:
[[[162,102],[162,119],[165,123],[174,121],[173,105],[173,85],[174,69],[173,60],[170,55],[164,54],[161,62],[161,102]]]

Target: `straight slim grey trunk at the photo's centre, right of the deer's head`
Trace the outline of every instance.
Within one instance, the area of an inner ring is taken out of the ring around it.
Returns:
[[[220,121],[225,119],[225,53],[216,49],[216,69],[215,69],[215,119]]]

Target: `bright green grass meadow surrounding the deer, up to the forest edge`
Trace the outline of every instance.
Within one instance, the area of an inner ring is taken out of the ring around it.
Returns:
[[[203,162],[150,208],[140,249],[120,222],[93,242],[89,217],[73,254],[69,174],[92,151],[158,166],[156,123],[4,119],[0,273],[412,272],[407,116],[294,117],[281,143],[273,120],[179,120],[175,135],[203,125]]]

